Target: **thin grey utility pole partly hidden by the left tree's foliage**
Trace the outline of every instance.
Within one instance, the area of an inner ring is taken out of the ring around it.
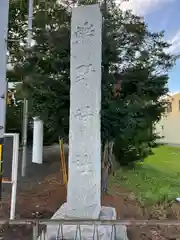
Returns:
[[[34,0],[29,0],[27,48],[31,48],[32,43],[33,4]],[[21,175],[23,177],[25,177],[26,175],[27,165],[27,133],[28,133],[28,100],[24,98],[23,131],[22,131],[22,166],[21,166]]]

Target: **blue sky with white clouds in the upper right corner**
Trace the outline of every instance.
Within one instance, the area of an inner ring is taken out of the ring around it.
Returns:
[[[165,31],[165,39],[172,44],[169,51],[180,53],[180,0],[118,0],[123,10],[144,17],[151,31]],[[180,60],[169,72],[168,87],[171,92],[180,91]]]

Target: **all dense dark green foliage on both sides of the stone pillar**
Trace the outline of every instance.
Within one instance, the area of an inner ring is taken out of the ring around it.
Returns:
[[[21,11],[18,8],[12,0],[9,32],[11,38],[25,41],[26,2]],[[162,32],[149,32],[141,18],[122,12],[113,2],[107,11],[103,4],[101,8],[102,143],[115,141],[117,159],[127,164],[149,153],[153,124],[164,112],[159,97],[167,93],[173,58],[164,51],[169,45]],[[67,4],[55,0],[35,3],[36,44],[31,49],[17,41],[9,44],[15,67],[8,77],[24,80],[21,90],[30,100],[31,116],[41,116],[52,139],[67,136],[69,128],[70,12]]]

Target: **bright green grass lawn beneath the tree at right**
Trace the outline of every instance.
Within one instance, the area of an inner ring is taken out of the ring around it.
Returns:
[[[118,169],[111,185],[132,191],[144,204],[174,200],[180,197],[180,148],[160,146],[135,169]]]

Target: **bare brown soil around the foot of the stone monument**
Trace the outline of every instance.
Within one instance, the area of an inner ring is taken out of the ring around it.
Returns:
[[[132,194],[119,185],[113,186],[114,194],[102,194],[102,205],[116,208],[120,219],[178,219],[180,220],[180,204],[169,202],[149,207],[142,206]],[[28,184],[27,189],[21,189],[17,197],[17,218],[50,218],[66,201],[66,187],[61,184],[59,171],[49,175],[42,181]],[[10,197],[1,203],[0,217],[8,218]],[[0,239],[30,240],[30,227],[4,226]],[[179,227],[128,227],[129,240],[180,240]]]

